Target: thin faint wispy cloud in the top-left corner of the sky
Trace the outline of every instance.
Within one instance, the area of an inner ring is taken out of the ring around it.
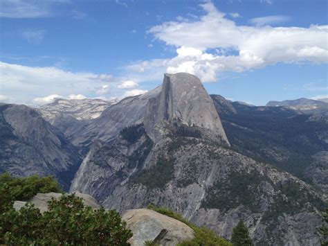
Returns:
[[[0,17],[5,18],[39,18],[53,16],[53,8],[69,0],[1,0]]]

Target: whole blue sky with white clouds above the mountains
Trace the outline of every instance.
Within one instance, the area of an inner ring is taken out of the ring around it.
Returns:
[[[326,0],[1,0],[0,102],[124,98],[163,73],[265,105],[327,98]]]

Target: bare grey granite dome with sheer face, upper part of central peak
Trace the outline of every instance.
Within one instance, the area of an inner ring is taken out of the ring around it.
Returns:
[[[160,139],[165,125],[176,121],[197,128],[205,139],[229,145],[212,98],[189,73],[165,74],[161,93],[147,103],[144,123],[152,140]]]

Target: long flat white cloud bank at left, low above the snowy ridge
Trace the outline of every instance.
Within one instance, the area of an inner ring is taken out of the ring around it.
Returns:
[[[107,74],[74,73],[57,67],[26,67],[0,62],[0,80],[1,95],[10,96],[15,103],[35,105],[47,103],[54,95],[94,98],[101,94],[108,97],[111,96],[108,84],[116,86],[117,80],[122,79]]]

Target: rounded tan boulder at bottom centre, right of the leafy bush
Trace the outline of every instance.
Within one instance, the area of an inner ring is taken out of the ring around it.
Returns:
[[[130,239],[132,246],[143,246],[146,240],[154,240],[162,230],[167,233],[159,245],[174,246],[194,238],[194,230],[179,220],[164,216],[149,209],[132,209],[122,215],[134,236]]]

